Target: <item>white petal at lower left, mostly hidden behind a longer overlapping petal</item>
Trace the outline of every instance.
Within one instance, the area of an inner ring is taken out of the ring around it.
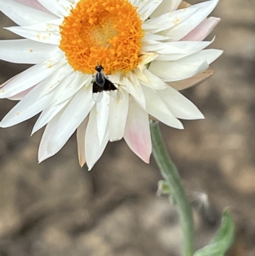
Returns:
[[[49,158],[50,156],[54,156],[57,152],[49,153],[47,151],[48,144],[50,143],[50,139],[52,138],[53,133],[55,132],[55,128],[59,123],[59,119],[61,118],[64,109],[62,109],[56,116],[52,118],[52,120],[47,124],[45,131],[43,132],[43,137],[41,137],[41,142],[38,151],[38,161],[39,163],[43,160]]]

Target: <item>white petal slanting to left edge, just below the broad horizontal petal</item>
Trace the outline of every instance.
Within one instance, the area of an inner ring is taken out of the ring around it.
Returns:
[[[62,61],[61,61],[62,59]],[[39,84],[63,64],[63,54],[55,54],[41,64],[36,64],[8,82],[0,91],[0,98],[8,98]],[[64,71],[64,70],[62,70]],[[55,74],[54,74],[55,75]]]

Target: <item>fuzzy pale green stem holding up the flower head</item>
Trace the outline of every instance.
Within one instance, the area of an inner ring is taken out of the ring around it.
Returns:
[[[164,179],[170,184],[173,199],[179,206],[180,224],[183,233],[183,255],[194,253],[194,223],[193,214],[187,199],[177,167],[172,162],[159,129],[159,122],[151,121],[152,153]]]

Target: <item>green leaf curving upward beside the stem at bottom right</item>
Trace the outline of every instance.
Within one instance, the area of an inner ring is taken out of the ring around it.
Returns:
[[[224,256],[230,249],[235,237],[235,223],[228,209],[222,214],[221,227],[210,244],[201,248],[193,256]]]

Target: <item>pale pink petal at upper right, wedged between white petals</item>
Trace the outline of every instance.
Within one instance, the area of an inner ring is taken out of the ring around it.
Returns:
[[[198,26],[196,26],[191,32],[189,32],[189,34],[184,36],[184,38],[182,38],[180,41],[204,40],[220,21],[220,18],[209,17],[208,19],[203,20]]]

